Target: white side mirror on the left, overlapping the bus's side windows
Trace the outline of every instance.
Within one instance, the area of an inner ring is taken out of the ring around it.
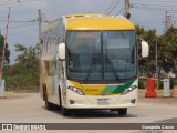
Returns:
[[[65,43],[60,43],[59,44],[58,55],[59,55],[59,60],[60,61],[64,61],[65,60]]]

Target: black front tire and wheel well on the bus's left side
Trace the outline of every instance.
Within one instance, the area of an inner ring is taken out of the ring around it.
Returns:
[[[60,89],[59,89],[59,100],[60,100],[60,105],[59,105],[59,106],[60,106],[60,110],[61,110],[62,115],[63,115],[63,116],[70,115],[70,110],[66,109],[66,108],[64,108],[64,106],[62,105],[62,94],[61,94]]]

